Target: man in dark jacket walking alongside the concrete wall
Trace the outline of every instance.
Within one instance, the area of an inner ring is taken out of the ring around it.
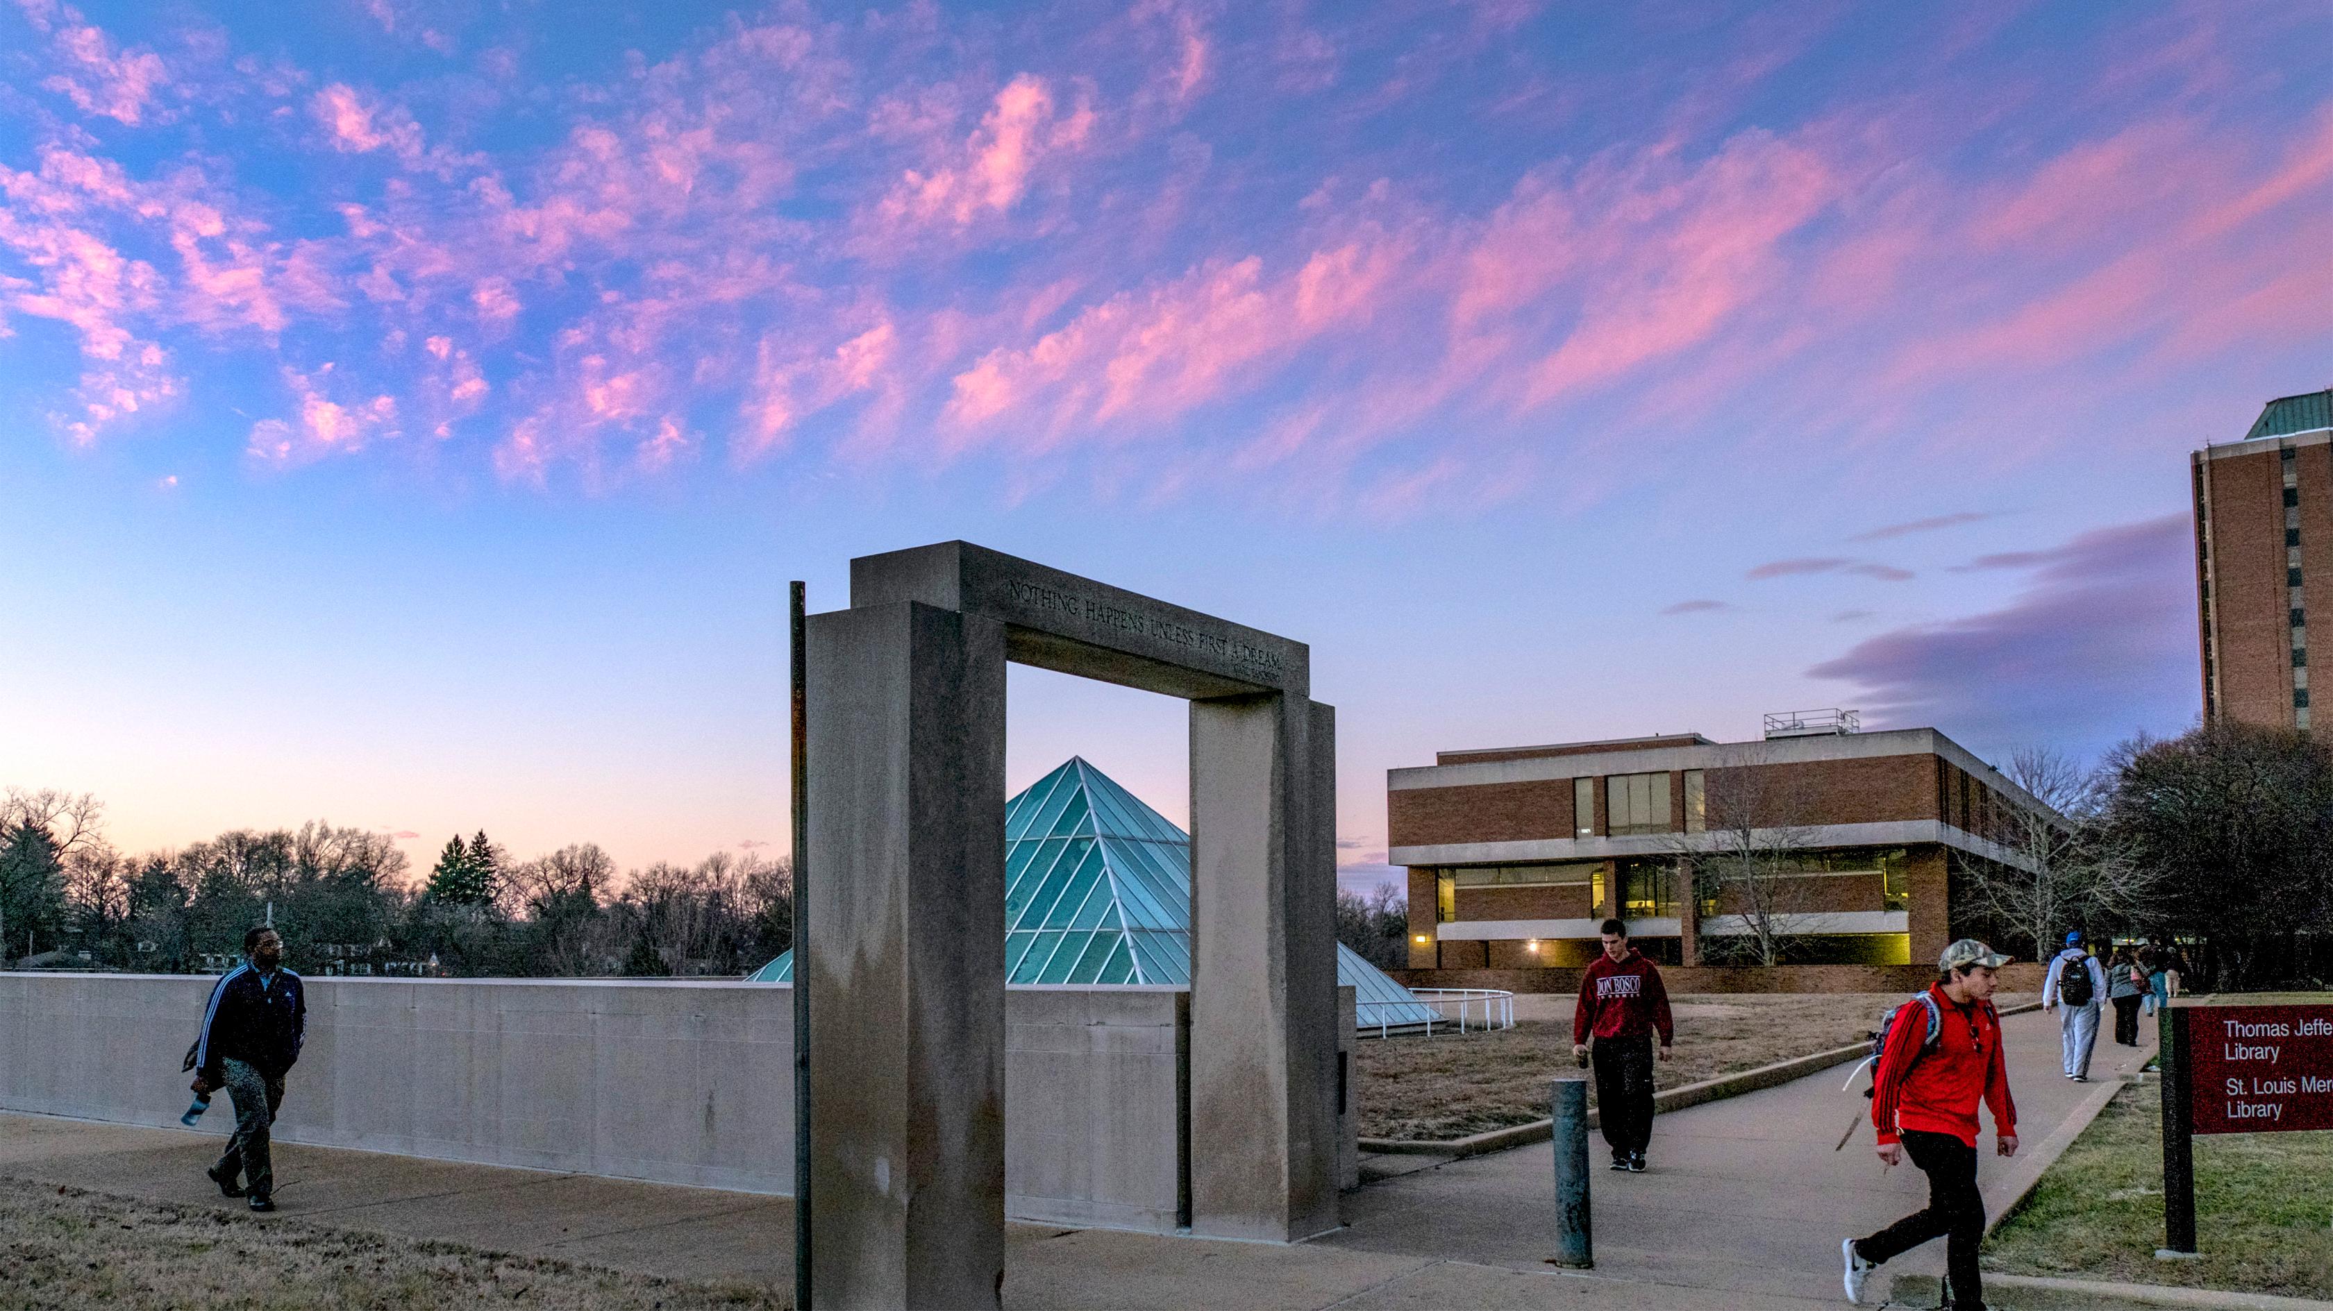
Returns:
[[[224,1087],[236,1099],[236,1134],[210,1166],[210,1183],[226,1197],[250,1197],[252,1211],[275,1211],[275,1166],[268,1127],[285,1101],[285,1073],[299,1061],[308,1029],[308,998],[299,975],[282,968],[285,940],[266,926],[243,935],[243,963],[210,989],[203,1031],[194,1040],[194,1092]],[[250,1178],[250,1187],[236,1183]]]

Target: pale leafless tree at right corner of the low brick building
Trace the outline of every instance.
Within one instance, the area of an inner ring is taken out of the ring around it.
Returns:
[[[2002,772],[2041,809],[2004,798],[1992,837],[2009,858],[1962,865],[1969,905],[2030,940],[2039,959],[2067,928],[2144,917],[2160,893],[2160,865],[2100,842],[2102,777],[2053,746],[2020,746]]]

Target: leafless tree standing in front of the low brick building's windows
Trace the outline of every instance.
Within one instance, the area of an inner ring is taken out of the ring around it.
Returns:
[[[1799,770],[1764,751],[1703,779],[1701,830],[1670,837],[1680,865],[1691,865],[1684,896],[1715,907],[1701,921],[1703,959],[1782,963],[1789,942],[1817,931],[1827,910],[1806,868],[1817,844],[1813,795]]]

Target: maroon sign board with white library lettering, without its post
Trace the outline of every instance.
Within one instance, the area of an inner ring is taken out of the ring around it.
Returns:
[[[2198,1005],[2186,1022],[2198,1134],[2333,1129],[2333,1005]]]

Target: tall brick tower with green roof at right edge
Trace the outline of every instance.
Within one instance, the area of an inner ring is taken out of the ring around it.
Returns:
[[[2310,630],[2333,667],[2333,390],[2268,401],[2188,469],[2205,718],[2333,737],[2333,690],[2310,721]]]

